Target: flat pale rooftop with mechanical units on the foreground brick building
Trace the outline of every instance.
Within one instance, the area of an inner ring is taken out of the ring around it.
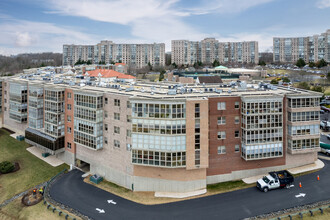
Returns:
[[[108,70],[107,70],[108,71]],[[91,72],[91,71],[90,71]],[[99,70],[97,70],[97,74]],[[273,86],[264,82],[241,82],[231,81],[218,84],[180,84],[176,82],[148,82],[137,80],[136,82],[99,82],[96,77],[90,80],[77,79],[74,76],[64,74],[51,74],[51,76],[20,74],[7,77],[19,82],[30,82],[33,84],[43,84],[51,87],[70,87],[71,89],[81,90],[82,92],[113,93],[132,96],[135,98],[153,99],[187,99],[187,98],[208,98],[208,97],[230,97],[230,96],[304,96],[321,97],[321,93],[306,91],[302,89]]]

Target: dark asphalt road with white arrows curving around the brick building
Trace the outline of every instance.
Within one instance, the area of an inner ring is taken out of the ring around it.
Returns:
[[[73,170],[53,184],[50,194],[56,201],[93,219],[242,219],[330,199],[330,161],[323,162],[322,170],[296,178],[294,187],[268,193],[253,187],[182,202],[141,205],[83,182],[83,173]],[[299,182],[302,188],[298,187]],[[299,193],[306,196],[296,198]],[[107,200],[117,204],[108,204]],[[104,209],[105,213],[96,208]]]

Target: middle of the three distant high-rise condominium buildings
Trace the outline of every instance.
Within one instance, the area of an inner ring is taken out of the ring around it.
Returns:
[[[258,42],[219,42],[214,38],[204,40],[172,40],[172,63],[178,65],[201,61],[202,63],[258,63]]]

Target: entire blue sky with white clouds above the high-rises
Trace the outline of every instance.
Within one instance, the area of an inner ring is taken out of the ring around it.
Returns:
[[[62,52],[63,44],[201,40],[259,42],[330,29],[330,0],[1,0],[0,54]]]

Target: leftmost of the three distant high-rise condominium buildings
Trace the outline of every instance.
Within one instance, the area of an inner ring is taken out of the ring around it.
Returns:
[[[74,65],[78,60],[91,63],[125,63],[141,68],[165,65],[165,44],[116,44],[101,41],[97,45],[63,45],[63,65]]]

